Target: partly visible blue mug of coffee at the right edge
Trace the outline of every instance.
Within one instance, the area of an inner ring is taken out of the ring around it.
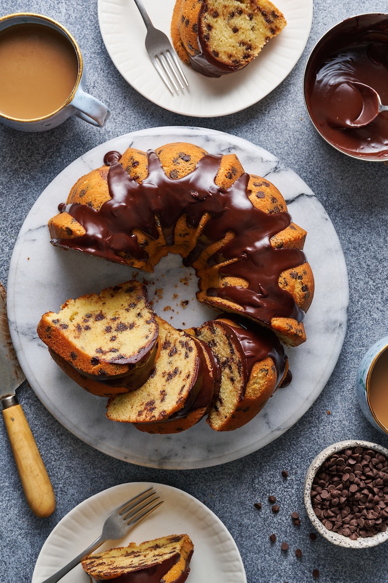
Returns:
[[[366,419],[388,435],[388,336],[375,342],[359,363],[356,395]]]

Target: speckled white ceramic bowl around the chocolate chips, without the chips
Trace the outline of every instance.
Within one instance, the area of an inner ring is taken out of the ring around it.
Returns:
[[[380,454],[385,455],[388,458],[388,449],[382,447],[382,445],[378,445],[376,443],[372,443],[370,441],[362,441],[362,440],[349,440],[349,441],[338,441],[337,443],[333,443],[333,445],[329,445],[326,449],[323,449],[320,454],[316,456],[315,459],[311,462],[306,477],[304,480],[304,505],[306,507],[307,515],[311,520],[312,524],[315,526],[316,530],[321,534],[325,539],[329,540],[333,545],[345,547],[347,549],[366,549],[368,547],[380,545],[380,543],[385,542],[388,540],[388,529],[385,532],[379,532],[376,535],[370,536],[369,538],[361,538],[359,537],[357,540],[351,540],[347,536],[340,535],[338,532],[328,531],[325,525],[316,517],[314,510],[312,509],[311,503],[311,486],[314,480],[315,474],[319,468],[321,468],[322,463],[325,459],[329,458],[330,455],[336,454],[340,451],[343,451],[347,448],[353,447],[364,447],[368,449],[373,449],[373,451],[377,451]]]

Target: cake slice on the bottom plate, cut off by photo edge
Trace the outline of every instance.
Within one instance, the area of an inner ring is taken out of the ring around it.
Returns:
[[[183,583],[193,550],[188,535],[169,535],[91,554],[81,564],[93,581]]]

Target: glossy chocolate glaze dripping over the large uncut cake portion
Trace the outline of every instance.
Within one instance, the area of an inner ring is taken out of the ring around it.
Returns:
[[[208,296],[218,296],[240,304],[244,314],[270,324],[273,317],[304,319],[304,312],[291,294],[278,285],[280,273],[305,262],[298,249],[274,249],[270,238],[291,222],[289,213],[267,214],[256,209],[247,196],[249,174],[242,174],[227,189],[215,184],[222,156],[206,154],[193,172],[171,178],[163,170],[153,150],[148,150],[148,175],[141,184],[131,178],[119,163],[119,152],[108,152],[104,161],[110,164],[108,187],[111,200],[99,210],[79,203],[59,205],[60,212],[72,215],[86,230],[74,239],[58,239],[52,243],[63,248],[86,251],[110,261],[127,263],[118,255],[147,259],[134,229],[158,238],[155,215],[161,224],[167,245],[174,244],[174,229],[179,217],[187,216],[187,224],[197,227],[202,216],[210,216],[185,265],[193,265],[208,245],[222,240],[226,233],[236,236],[208,260],[208,265],[232,261],[219,268],[219,273],[248,281],[247,289],[229,286],[211,288]]]

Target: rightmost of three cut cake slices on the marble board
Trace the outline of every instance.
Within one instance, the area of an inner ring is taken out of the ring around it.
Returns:
[[[283,346],[273,332],[240,317],[221,317],[188,332],[208,344],[220,365],[219,396],[207,422],[216,431],[242,427],[286,378]]]

